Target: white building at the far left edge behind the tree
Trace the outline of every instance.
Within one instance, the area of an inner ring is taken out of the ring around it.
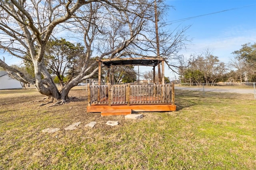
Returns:
[[[22,88],[20,82],[11,78],[6,71],[0,71],[0,90]]]

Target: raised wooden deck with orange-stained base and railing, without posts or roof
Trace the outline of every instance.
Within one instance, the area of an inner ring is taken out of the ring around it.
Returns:
[[[174,84],[88,85],[88,112],[127,115],[142,111],[176,111]]]

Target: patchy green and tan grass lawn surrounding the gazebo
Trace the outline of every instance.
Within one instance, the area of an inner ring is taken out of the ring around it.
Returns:
[[[34,89],[0,90],[0,169],[256,169],[256,100],[251,94],[176,90],[178,111],[139,120],[86,113],[76,100],[42,106]],[[78,129],[64,131],[81,121]],[[94,128],[84,125],[96,121]],[[110,127],[106,121],[119,121]],[[61,128],[42,133],[46,128]]]

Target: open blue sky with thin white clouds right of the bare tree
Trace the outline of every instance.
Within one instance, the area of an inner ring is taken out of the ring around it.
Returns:
[[[233,51],[245,43],[256,42],[255,0],[166,0],[166,4],[174,7],[166,16],[170,30],[191,25],[186,35],[192,41],[188,49],[179,53],[185,57],[209,49],[221,62],[228,63],[234,57]],[[190,17],[195,18],[176,21]],[[165,76],[175,78],[167,66]]]

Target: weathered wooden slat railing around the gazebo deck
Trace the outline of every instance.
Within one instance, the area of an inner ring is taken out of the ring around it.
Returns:
[[[91,104],[173,104],[174,83],[172,84],[88,84],[88,105]]]

